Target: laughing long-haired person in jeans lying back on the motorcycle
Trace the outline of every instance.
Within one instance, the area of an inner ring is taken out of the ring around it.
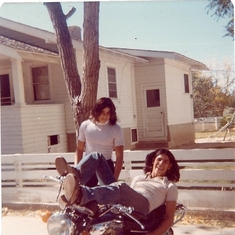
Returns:
[[[65,191],[59,199],[61,209],[90,201],[98,204],[121,204],[133,207],[135,211],[147,215],[155,208],[166,205],[165,218],[152,235],[161,235],[173,223],[178,197],[177,182],[179,167],[174,155],[167,149],[157,149],[146,156],[144,173],[136,176],[131,185],[117,182],[105,160],[97,153],[85,156],[76,167],[67,164],[63,157],[55,160],[56,169],[61,176]],[[99,186],[88,187],[86,182],[96,173]]]

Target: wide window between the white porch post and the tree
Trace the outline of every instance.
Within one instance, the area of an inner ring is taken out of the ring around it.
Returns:
[[[32,68],[34,100],[49,100],[48,67]]]

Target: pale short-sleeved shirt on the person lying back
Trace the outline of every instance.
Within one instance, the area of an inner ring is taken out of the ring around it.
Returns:
[[[148,199],[149,212],[167,201],[177,201],[178,198],[177,186],[167,177],[136,176],[131,187]]]

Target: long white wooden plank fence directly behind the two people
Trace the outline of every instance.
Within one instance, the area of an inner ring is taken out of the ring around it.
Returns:
[[[179,203],[188,208],[235,209],[235,149],[171,150],[181,178]],[[120,180],[130,183],[143,174],[145,156],[151,151],[125,151]],[[57,176],[54,160],[62,155],[73,164],[74,153],[2,155],[2,203],[55,203]]]

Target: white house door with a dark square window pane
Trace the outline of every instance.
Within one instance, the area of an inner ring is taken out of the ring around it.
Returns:
[[[144,87],[144,135],[164,136],[161,87]]]

